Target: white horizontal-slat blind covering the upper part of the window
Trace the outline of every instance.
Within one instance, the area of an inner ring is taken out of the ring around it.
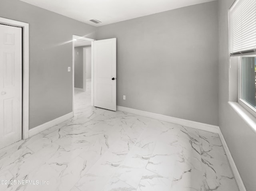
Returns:
[[[230,55],[256,52],[256,0],[237,0],[230,8]]]

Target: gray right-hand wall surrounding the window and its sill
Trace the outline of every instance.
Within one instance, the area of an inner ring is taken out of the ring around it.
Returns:
[[[218,0],[219,125],[247,191],[256,188],[256,134],[228,104],[228,9],[234,0]]]

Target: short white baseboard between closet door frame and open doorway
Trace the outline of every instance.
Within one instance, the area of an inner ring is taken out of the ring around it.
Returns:
[[[54,120],[51,120],[49,122],[46,122],[46,123],[42,124],[42,125],[36,126],[36,127],[32,128],[28,131],[28,136],[31,137],[35,134],[38,134],[38,133],[40,133],[40,132],[42,132],[42,131],[44,131],[44,130],[52,127],[52,126],[55,126],[55,125],[57,125],[57,124],[59,124],[63,121],[66,121],[66,120],[72,118],[73,116],[74,116],[73,112],[70,112],[66,115],[60,116],[60,117],[58,117]]]

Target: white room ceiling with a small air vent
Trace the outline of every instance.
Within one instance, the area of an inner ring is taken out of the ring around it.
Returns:
[[[213,0],[21,0],[75,20],[102,26]],[[96,19],[100,24],[89,20]]]

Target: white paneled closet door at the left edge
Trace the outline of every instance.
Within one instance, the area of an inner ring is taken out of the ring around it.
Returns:
[[[22,139],[22,29],[0,24],[0,148]]]

